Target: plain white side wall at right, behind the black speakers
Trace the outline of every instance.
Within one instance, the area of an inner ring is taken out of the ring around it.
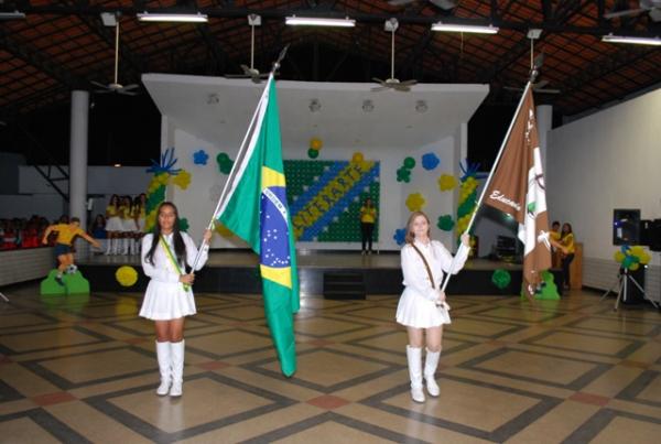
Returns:
[[[615,263],[615,208],[640,208],[643,219],[661,217],[660,116],[658,89],[550,133],[551,218],[572,223],[576,240],[584,243],[584,275],[593,274],[590,261]],[[653,263],[660,263],[659,255]]]

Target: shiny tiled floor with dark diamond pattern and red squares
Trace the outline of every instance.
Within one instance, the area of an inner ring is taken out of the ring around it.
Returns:
[[[138,294],[0,302],[0,442],[658,443],[661,314],[572,292],[452,300],[441,397],[409,396],[397,297],[302,300],[281,376],[259,296],[198,294],[184,397],[159,398]]]

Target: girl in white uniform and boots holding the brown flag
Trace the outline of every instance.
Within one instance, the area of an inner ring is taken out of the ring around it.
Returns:
[[[441,392],[434,380],[434,373],[441,357],[443,324],[449,324],[451,320],[445,293],[440,289],[443,285],[444,272],[456,274],[464,267],[468,258],[468,246],[469,236],[464,234],[462,247],[453,264],[452,255],[443,243],[431,239],[429,217],[422,212],[414,212],[409,217],[407,245],[401,252],[404,292],[397,307],[397,322],[404,325],[409,334],[407,358],[411,377],[411,398],[415,402],[424,402],[423,375],[427,392],[432,397],[437,397]],[[426,333],[424,371],[422,369],[423,333]]]

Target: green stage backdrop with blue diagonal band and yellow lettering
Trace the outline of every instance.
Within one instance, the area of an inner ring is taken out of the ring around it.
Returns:
[[[379,162],[284,161],[284,174],[297,240],[360,241],[362,201],[369,196],[379,208]]]

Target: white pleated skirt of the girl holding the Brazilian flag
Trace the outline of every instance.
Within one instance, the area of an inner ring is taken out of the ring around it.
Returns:
[[[159,282],[153,279],[149,282],[140,316],[152,321],[171,321],[195,313],[193,291],[185,291],[181,282]]]

